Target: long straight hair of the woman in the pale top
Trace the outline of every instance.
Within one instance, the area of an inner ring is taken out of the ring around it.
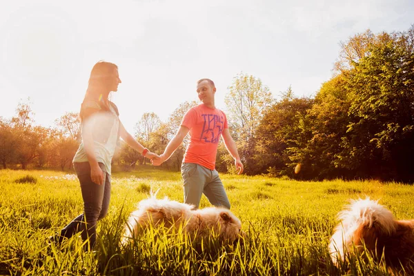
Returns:
[[[110,86],[110,83],[112,83],[115,77],[115,69],[118,69],[118,66],[107,61],[98,61],[95,66],[93,66],[88,81],[88,89],[86,90],[83,102],[88,100],[97,101],[103,110],[109,110],[108,86]],[[82,107],[79,112],[79,117],[81,121],[85,119],[84,108]]]

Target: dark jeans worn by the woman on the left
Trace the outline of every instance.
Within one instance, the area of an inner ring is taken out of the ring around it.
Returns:
[[[90,250],[97,239],[97,221],[108,213],[110,200],[110,175],[105,170],[105,165],[99,163],[99,167],[105,172],[103,184],[98,185],[90,179],[89,162],[75,162],[73,164],[79,182],[81,183],[83,197],[83,214],[73,219],[70,224],[61,230],[61,237],[72,237],[75,233],[82,231],[83,241],[89,238],[86,249]],[[87,226],[87,227],[86,227]],[[87,229],[87,230],[85,230]]]

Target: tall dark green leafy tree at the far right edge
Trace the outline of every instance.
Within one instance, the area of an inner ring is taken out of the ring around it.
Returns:
[[[348,74],[352,103],[344,155],[362,177],[414,181],[414,55],[401,39],[406,37],[390,36],[372,46]]]

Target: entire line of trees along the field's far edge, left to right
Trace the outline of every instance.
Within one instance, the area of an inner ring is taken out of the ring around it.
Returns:
[[[370,30],[340,43],[334,75],[315,97],[296,97],[291,87],[275,99],[262,81],[241,72],[226,93],[230,133],[248,175],[297,179],[414,181],[414,25],[403,32]],[[136,139],[163,152],[185,112],[184,102],[166,121],[145,113]],[[66,113],[52,128],[33,125],[30,104],[19,103],[12,119],[0,118],[3,168],[67,168],[80,139],[77,114]],[[179,170],[188,140],[163,166]],[[115,164],[148,160],[122,142]],[[233,172],[233,160],[219,144],[217,170]],[[295,166],[301,170],[295,174]]]

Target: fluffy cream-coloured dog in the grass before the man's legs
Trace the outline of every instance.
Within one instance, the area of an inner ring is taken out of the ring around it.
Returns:
[[[233,243],[240,235],[244,236],[242,223],[226,208],[209,207],[193,210],[194,206],[171,201],[168,197],[139,202],[138,209],[130,214],[125,227],[122,244],[133,242],[140,230],[164,225],[167,228],[180,226],[193,237],[207,237],[210,231],[218,235],[221,242]]]

